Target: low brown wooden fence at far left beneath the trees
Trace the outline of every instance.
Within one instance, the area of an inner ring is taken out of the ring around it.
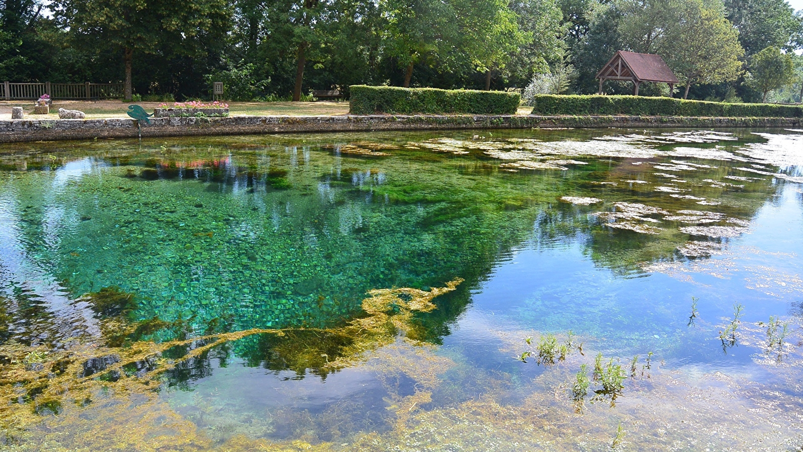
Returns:
[[[122,99],[123,83],[9,83],[0,86],[0,100],[36,100],[43,94],[51,99]]]

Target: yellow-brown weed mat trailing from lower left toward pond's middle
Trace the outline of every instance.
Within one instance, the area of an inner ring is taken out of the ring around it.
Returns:
[[[185,368],[194,359],[249,336],[309,333],[306,340],[293,341],[291,348],[273,349],[273,353],[286,354],[291,360],[316,355],[324,344],[335,342],[336,348],[327,348],[327,359],[320,363],[329,372],[364,362],[369,359],[366,352],[399,338],[418,344],[410,334],[415,313],[434,310],[432,300],[454,291],[461,282],[462,279],[454,279],[446,287],[433,287],[430,291],[406,287],[369,291],[370,296],[362,302],[365,316],[340,328],[254,328],[207,335],[173,332],[172,340],[163,341],[147,340],[146,336],[153,338],[175,328],[175,323],[129,321],[119,308],[129,307],[132,297],[104,288],[84,297],[93,306],[118,308],[114,311],[117,316],[101,320],[103,345],[93,343],[96,338],[91,336],[75,338],[67,347],[26,346],[14,341],[0,345],[0,399],[10,401],[0,407],[3,443],[22,445],[30,435],[28,430],[47,421],[43,415],[59,415],[68,405],[84,409],[96,400],[102,404],[131,403],[137,397],[153,401],[163,374]],[[214,329],[214,325],[207,329]],[[137,340],[131,340],[135,337]],[[133,434],[125,441],[132,442],[138,433]]]

